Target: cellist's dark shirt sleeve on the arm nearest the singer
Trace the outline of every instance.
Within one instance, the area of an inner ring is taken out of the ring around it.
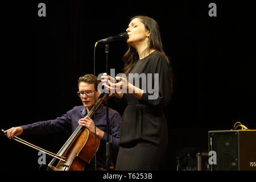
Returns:
[[[111,118],[109,118],[109,128],[110,128],[110,135],[109,135],[109,143],[112,144],[112,148],[114,150],[118,150],[119,148],[119,130],[121,126],[121,115],[119,113],[114,113]],[[106,142],[107,133],[105,132],[102,140]]]

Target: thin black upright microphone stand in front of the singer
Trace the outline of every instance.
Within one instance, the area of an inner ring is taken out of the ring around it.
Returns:
[[[109,75],[109,44],[105,43],[106,73]],[[110,170],[110,143],[109,143],[109,94],[106,94],[106,169]]]

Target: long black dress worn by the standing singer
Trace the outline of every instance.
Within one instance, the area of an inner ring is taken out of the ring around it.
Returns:
[[[168,142],[163,109],[171,100],[171,68],[164,55],[154,51],[138,60],[130,73],[138,73],[128,75],[127,79],[144,93],[141,100],[123,94],[127,107],[122,115],[116,169],[157,170]]]

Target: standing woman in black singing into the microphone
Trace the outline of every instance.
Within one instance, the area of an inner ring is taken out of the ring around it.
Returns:
[[[126,76],[113,78],[104,73],[101,77],[108,90],[114,90],[117,98],[127,102],[116,169],[157,170],[168,143],[163,109],[171,100],[171,67],[154,19],[134,16],[126,32]]]

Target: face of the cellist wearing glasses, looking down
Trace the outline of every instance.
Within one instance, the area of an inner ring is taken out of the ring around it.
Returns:
[[[85,107],[87,107],[89,110],[92,109],[94,104],[98,101],[98,97],[100,96],[100,93],[96,92],[96,101],[94,100],[94,84],[80,82],[79,92],[80,92],[80,98],[81,98],[82,104]],[[84,94],[81,94],[81,93],[84,93]]]

